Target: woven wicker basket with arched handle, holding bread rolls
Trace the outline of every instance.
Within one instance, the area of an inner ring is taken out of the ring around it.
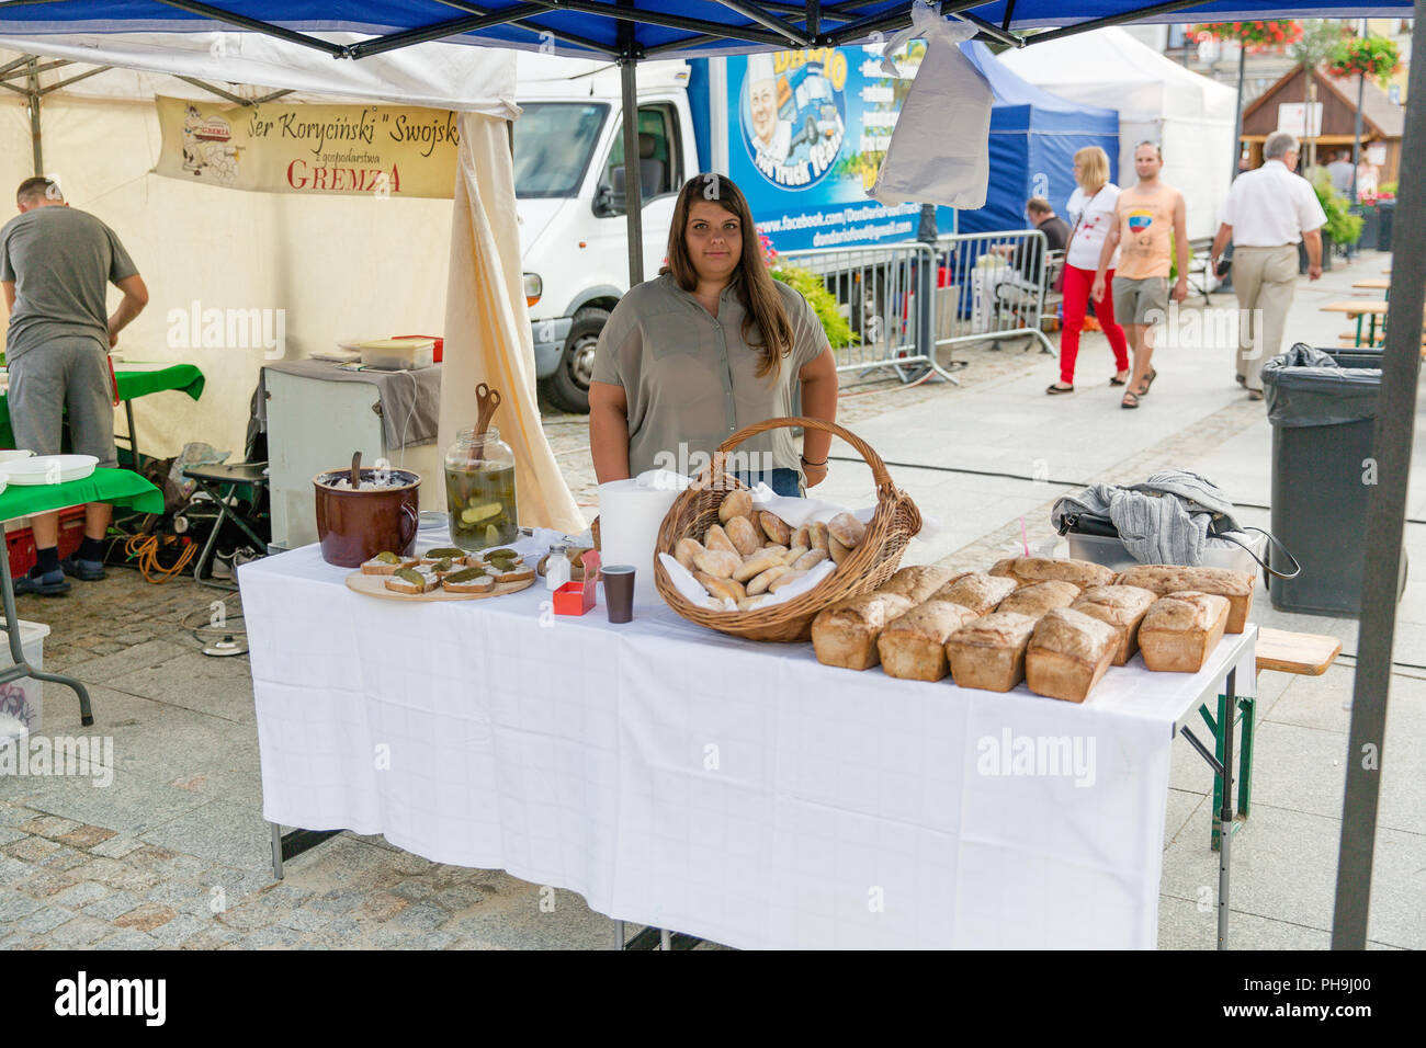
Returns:
[[[834,422],[813,418],[776,418],[740,429],[719,446],[713,453],[713,462],[699,473],[687,490],[673,500],[669,515],[663,518],[657,552],[672,556],[679,539],[702,539],[710,526],[719,523],[717,510],[723,498],[727,492],[746,486],[737,478],[724,475],[727,453],[750,436],[784,426],[834,433],[856,448],[867,461],[867,465],[871,466],[871,476],[877,482],[877,509],[871,516],[871,523],[867,525],[867,535],[851,550],[851,556],[843,560],[837,570],[821,583],[791,600],[752,612],[713,612],[692,603],[679,593],[663,562],[656,556],[653,577],[659,593],[669,603],[669,607],[689,622],[749,640],[809,640],[811,639],[811,620],[817,617],[820,610],[837,600],[881,586],[901,565],[906,543],[921,530],[921,513],[915,503],[891,483],[886,463],[866,441]]]

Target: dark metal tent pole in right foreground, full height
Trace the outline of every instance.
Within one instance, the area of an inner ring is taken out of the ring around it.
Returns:
[[[1402,170],[1426,170],[1426,0],[1416,0],[1412,63],[1402,134]],[[1372,898],[1372,853],[1380,769],[1386,759],[1386,703],[1396,640],[1396,595],[1406,529],[1406,483],[1416,428],[1422,309],[1426,308],[1426,180],[1400,180],[1399,225],[1392,238],[1392,298],[1386,312],[1382,391],[1372,456],[1376,483],[1366,503],[1366,570],[1352,687],[1352,727],[1342,797],[1332,948],[1365,950]],[[1370,468],[1363,463],[1363,469]],[[1366,478],[1363,476],[1363,482]]]

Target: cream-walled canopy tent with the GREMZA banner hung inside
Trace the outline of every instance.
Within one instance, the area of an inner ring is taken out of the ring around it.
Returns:
[[[355,43],[362,37],[331,33],[325,38]],[[462,113],[463,140],[488,137],[506,151],[508,161],[505,121],[519,114],[515,51],[426,43],[352,63],[234,31],[0,37],[0,48],[10,88],[10,97],[0,97],[0,192],[40,170],[58,180],[71,205],[113,227],[151,295],[116,352],[127,359],[197,364],[208,379],[197,404],[170,396],[161,409],[135,412],[147,452],[171,455],[185,441],[201,439],[240,459],[250,398],[267,362],[257,345],[173,345],[170,311],[191,311],[194,302],[202,309],[281,309],[287,359],[348,338],[443,334],[452,361],[446,379],[452,381],[442,396],[442,438],[449,439],[448,431],[461,421],[473,419],[476,381],[499,385],[506,406],[498,422],[526,445],[516,451],[532,471],[522,485],[529,496],[522,510],[529,509],[536,523],[583,526],[538,425],[533,358],[519,359],[532,354],[523,301],[495,308],[482,284],[479,311],[461,309],[456,319],[446,309],[448,282],[468,287],[483,265],[455,254],[451,201],[237,192],[151,173],[161,145],[155,96],[449,108]],[[30,63],[26,56],[40,57]],[[34,87],[40,91],[37,118]],[[453,173],[466,187],[456,192],[459,228],[471,228],[471,208],[481,195],[495,192],[501,204],[481,208],[488,218],[476,225],[489,228],[473,242],[462,232],[459,251],[479,244],[495,252],[495,268],[508,277],[498,282],[498,297],[520,299],[512,175],[508,164],[503,171],[491,164],[501,164],[496,151],[481,143],[466,151],[462,143],[461,168]],[[0,318],[0,337],[4,322]],[[451,325],[468,331],[462,335]],[[478,335],[469,331],[472,325]],[[462,345],[469,359],[461,359]],[[526,376],[529,395],[512,396],[513,385],[526,385]],[[442,485],[429,488],[436,505]]]

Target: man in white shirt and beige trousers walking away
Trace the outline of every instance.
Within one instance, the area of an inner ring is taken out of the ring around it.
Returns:
[[[1322,227],[1328,217],[1310,183],[1293,174],[1298,140],[1275,131],[1263,143],[1263,164],[1233,180],[1214,238],[1211,265],[1233,244],[1238,321],[1238,385],[1262,399],[1262,365],[1282,348],[1282,329],[1298,282],[1298,244],[1308,247],[1308,278],[1322,275]]]

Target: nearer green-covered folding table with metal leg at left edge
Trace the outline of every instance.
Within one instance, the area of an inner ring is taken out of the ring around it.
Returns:
[[[163,513],[164,495],[148,481],[130,469],[96,469],[83,481],[46,485],[9,485],[0,492],[0,523],[19,516],[33,516],[48,513],[56,509],[83,506],[88,502],[108,502],[116,506],[131,506],[143,513]],[[14,610],[14,580],[10,577],[10,556],[7,550],[0,550],[0,602],[4,605],[4,620],[19,623],[20,616]],[[10,636],[10,656],[14,666],[0,670],[0,684],[20,677],[34,677],[36,680],[50,680],[74,689],[80,697],[80,723],[86,727],[94,723],[94,713],[90,710],[88,692],[84,684],[58,673],[44,673],[34,669],[24,659],[24,649],[20,646],[19,627],[6,630]]]

